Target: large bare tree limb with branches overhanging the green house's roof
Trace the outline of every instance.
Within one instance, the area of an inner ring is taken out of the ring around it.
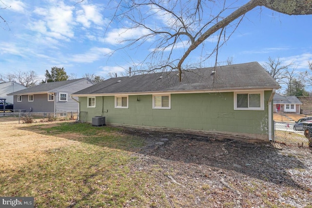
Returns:
[[[120,24],[126,19],[129,24],[124,27],[124,33],[136,30],[142,34],[138,38],[122,40],[121,42],[127,43],[122,49],[137,48],[143,43],[150,42],[150,53],[142,62],[152,64],[154,70],[178,70],[180,80],[182,69],[186,67],[184,62],[198,46],[205,47],[205,40],[208,38],[216,38],[215,47],[208,49],[209,52],[201,57],[204,59],[215,57],[217,65],[218,49],[231,37],[244,15],[254,8],[263,6],[288,15],[312,14],[311,0],[250,0],[244,5],[238,0],[109,2],[115,9],[112,23],[118,21]],[[148,24],[152,20],[156,22],[154,18],[163,18],[163,22],[166,22],[160,26],[156,23]],[[176,48],[180,46],[184,50],[182,54],[177,55]]]

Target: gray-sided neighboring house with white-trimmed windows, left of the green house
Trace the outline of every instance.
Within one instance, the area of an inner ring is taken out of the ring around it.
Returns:
[[[78,112],[78,100],[70,95],[93,84],[88,78],[48,82],[9,95],[14,95],[14,110],[34,113]]]

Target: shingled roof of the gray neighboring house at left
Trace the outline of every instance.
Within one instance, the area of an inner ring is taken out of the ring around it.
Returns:
[[[42,83],[33,87],[29,87],[24,90],[16,91],[14,93],[10,93],[8,95],[25,95],[25,94],[36,94],[36,93],[46,93],[46,92],[54,92],[55,89],[71,84],[73,82],[76,82],[78,80],[85,79],[85,78],[79,78],[79,79],[72,79],[72,80],[66,80],[66,81],[58,81],[58,82],[48,82],[48,83]]]

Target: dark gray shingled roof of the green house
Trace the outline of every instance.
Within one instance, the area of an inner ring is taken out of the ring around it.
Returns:
[[[85,88],[73,95],[135,94],[149,92],[181,92],[280,88],[258,62],[234,64],[177,72],[114,77]]]

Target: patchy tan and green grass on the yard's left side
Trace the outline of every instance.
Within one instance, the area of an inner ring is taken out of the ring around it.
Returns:
[[[153,178],[128,167],[142,145],[140,138],[86,123],[20,126],[0,139],[0,196],[35,197],[38,208],[146,207],[164,193],[147,189],[157,187]]]

